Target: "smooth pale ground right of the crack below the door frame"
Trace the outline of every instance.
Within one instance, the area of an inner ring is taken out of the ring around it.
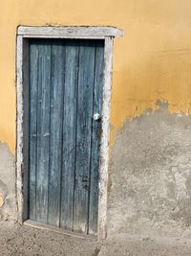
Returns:
[[[127,234],[105,240],[98,256],[190,256],[191,240]]]

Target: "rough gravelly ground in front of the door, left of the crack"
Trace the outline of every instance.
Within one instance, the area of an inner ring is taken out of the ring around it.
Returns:
[[[0,221],[0,256],[96,256],[99,248],[100,244],[93,239]]]

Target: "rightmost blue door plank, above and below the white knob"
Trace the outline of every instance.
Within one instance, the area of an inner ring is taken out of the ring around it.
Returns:
[[[102,90],[104,66],[104,42],[96,42],[96,68],[94,87],[94,113],[102,114]],[[101,136],[101,120],[93,121],[92,157],[91,157],[91,185],[89,198],[89,234],[97,230],[98,211],[98,176],[99,176],[99,147]]]

